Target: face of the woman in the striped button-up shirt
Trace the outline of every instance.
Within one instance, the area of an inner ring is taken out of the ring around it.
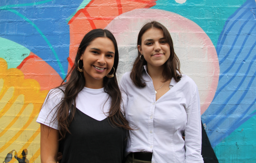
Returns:
[[[166,43],[162,29],[150,28],[142,35],[138,49],[143,54],[147,67],[164,66],[170,57],[170,46]]]

